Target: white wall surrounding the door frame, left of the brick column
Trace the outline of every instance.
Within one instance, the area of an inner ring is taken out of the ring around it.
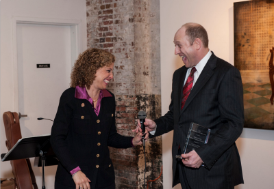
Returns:
[[[86,50],[86,1],[85,0],[2,0],[1,1],[1,154],[5,147],[5,130],[2,115],[5,111],[14,111],[14,65],[12,51],[12,16],[32,18],[53,18],[62,20],[82,20],[82,50]],[[53,92],[53,91],[52,91]],[[58,94],[59,95],[59,94]],[[50,128],[40,128],[45,134]],[[1,178],[14,177],[10,162],[1,162]],[[35,168],[39,169],[39,168]],[[45,171],[47,172],[46,168]],[[41,169],[40,169],[41,173]],[[53,188],[54,175],[47,175],[46,187]],[[41,187],[40,175],[36,175],[38,187]]]

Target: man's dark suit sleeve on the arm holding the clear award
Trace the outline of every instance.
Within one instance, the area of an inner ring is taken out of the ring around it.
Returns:
[[[235,143],[244,126],[242,79],[235,67],[227,70],[223,77],[218,102],[221,124],[216,133],[210,135],[206,145],[195,149],[208,169]]]

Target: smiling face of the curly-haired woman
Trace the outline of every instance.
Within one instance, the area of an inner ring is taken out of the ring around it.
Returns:
[[[110,66],[104,66],[103,68],[99,68],[95,74],[95,80],[92,82],[90,87],[101,90],[106,89],[108,83],[113,78],[113,67],[114,63],[110,64]]]

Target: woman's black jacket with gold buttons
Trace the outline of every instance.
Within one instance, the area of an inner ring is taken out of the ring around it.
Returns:
[[[66,89],[51,129],[51,145],[60,160],[55,181],[64,188],[75,188],[69,172],[79,166],[92,181],[90,186],[95,181],[99,188],[112,184],[115,175],[108,146],[132,147],[131,140],[116,132],[113,94],[101,100],[97,117],[88,100],[75,98],[75,88]]]

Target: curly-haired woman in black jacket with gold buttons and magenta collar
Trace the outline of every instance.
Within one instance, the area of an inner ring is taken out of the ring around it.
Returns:
[[[114,189],[108,146],[142,144],[141,133],[132,138],[116,132],[115,98],[106,90],[114,61],[111,53],[91,48],[75,62],[71,88],[62,93],[51,129],[51,145],[60,161],[55,188]]]

